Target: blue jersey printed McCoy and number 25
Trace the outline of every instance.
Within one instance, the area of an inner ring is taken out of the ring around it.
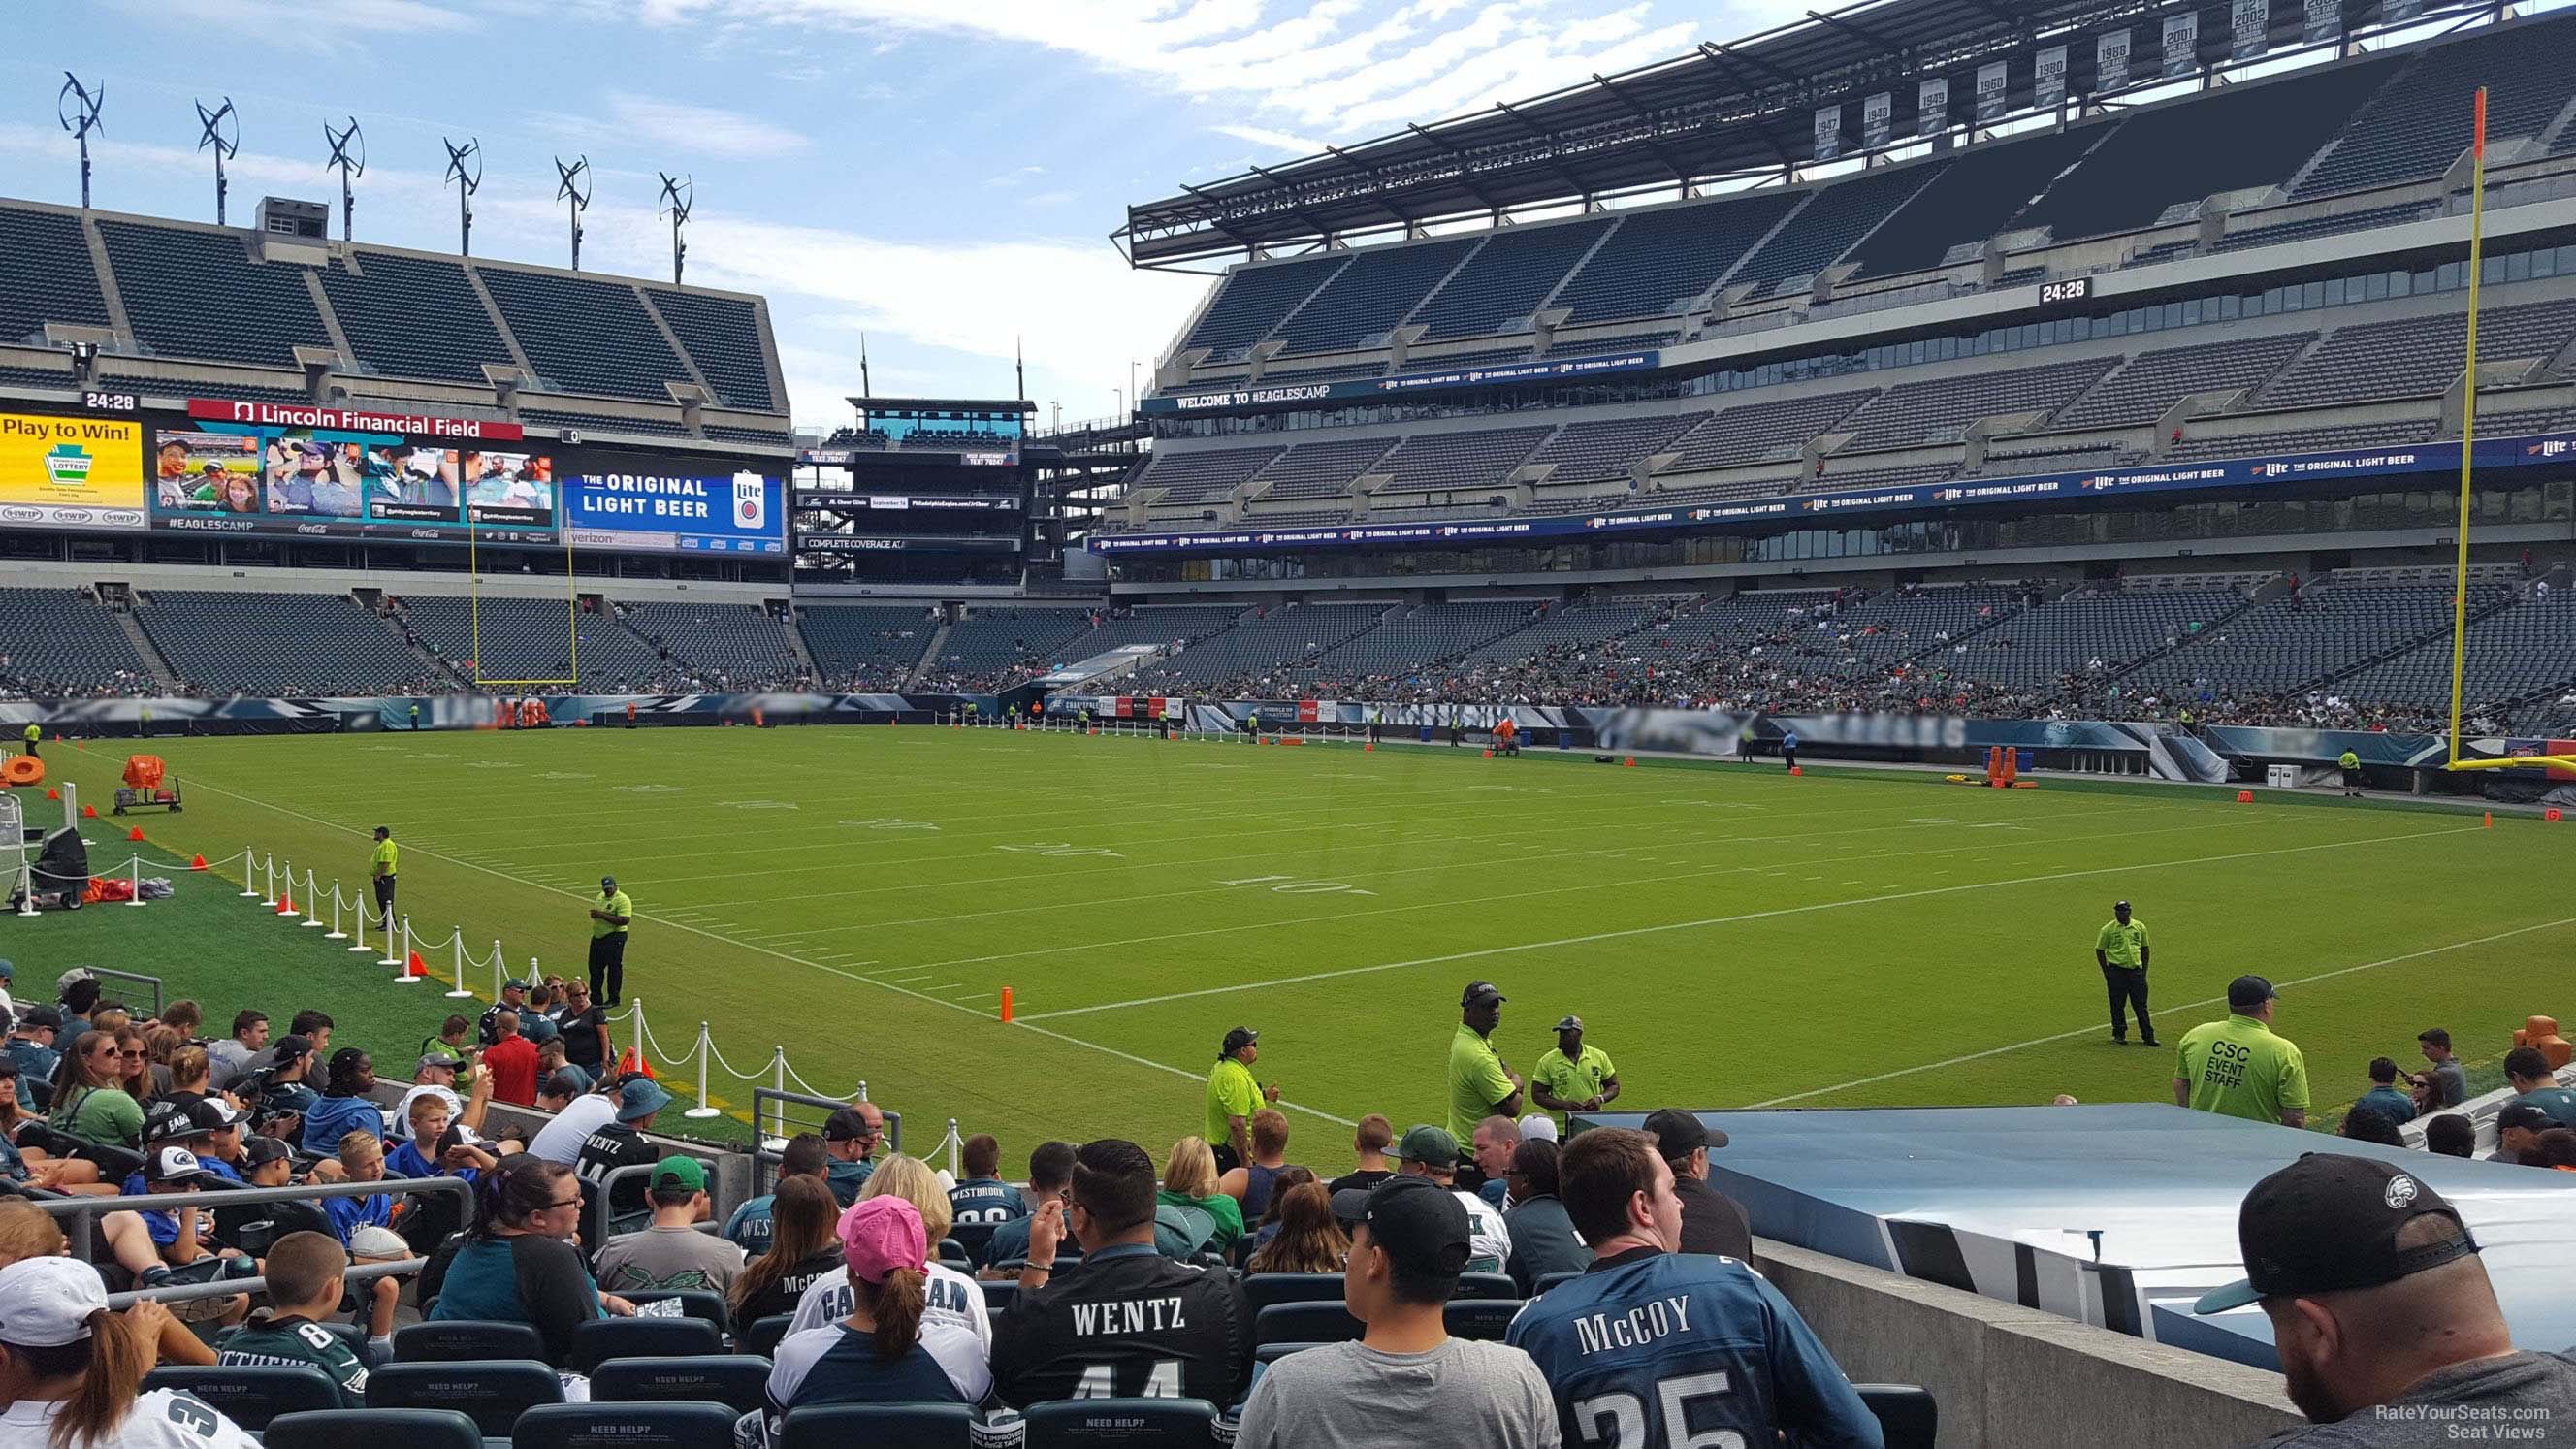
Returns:
[[[1566,1446],[1883,1449],[1798,1310],[1734,1258],[1620,1253],[1520,1310],[1504,1343],[1538,1361]]]

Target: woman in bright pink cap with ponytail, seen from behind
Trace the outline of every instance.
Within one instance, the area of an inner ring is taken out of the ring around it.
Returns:
[[[992,1395],[984,1343],[925,1307],[922,1220],[907,1199],[871,1196],[840,1220],[850,1312],[778,1343],[768,1426],[829,1403],[966,1403]]]

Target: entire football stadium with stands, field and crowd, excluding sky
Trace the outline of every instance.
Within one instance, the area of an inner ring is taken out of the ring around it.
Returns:
[[[103,98],[0,168],[28,1444],[2576,1444],[2576,13],[1195,168],[1079,423],[791,397],[667,173],[670,281],[456,142],[456,250],[335,129],[232,224],[201,103],[209,224]]]

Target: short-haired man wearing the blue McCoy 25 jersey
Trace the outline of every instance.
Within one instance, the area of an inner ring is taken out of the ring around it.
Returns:
[[[1504,1343],[1538,1361],[1556,1395],[1566,1441],[1592,1431],[1577,1405],[1636,1395],[1659,1428],[1646,1441],[1878,1446],[1878,1421],[1842,1377],[1834,1356],[1752,1266],[1736,1258],[1680,1253],[1682,1199],[1662,1145],[1620,1127],[1595,1127],[1566,1142],[1558,1191],[1574,1230],[1597,1253],[1584,1276],[1548,1289],[1512,1320]],[[1672,1305],[1672,1312],[1649,1312]],[[1605,1341],[1602,1320],[1643,1333]],[[1662,1328],[1662,1330],[1656,1330]],[[1723,1374],[1728,1392],[1682,1408],[1667,1387],[1695,1374]],[[1674,1423],[1687,1413],[1687,1423]]]

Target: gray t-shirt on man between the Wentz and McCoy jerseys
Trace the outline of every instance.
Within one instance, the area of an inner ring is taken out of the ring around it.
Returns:
[[[1556,1397],[1520,1348],[1450,1338],[1430,1354],[1324,1343],[1288,1354],[1244,1403],[1236,1449],[1558,1449]]]

